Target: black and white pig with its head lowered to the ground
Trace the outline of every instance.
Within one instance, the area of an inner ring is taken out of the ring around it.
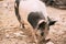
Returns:
[[[34,30],[38,30],[42,36],[46,36],[52,21],[46,12],[45,3],[40,0],[15,0],[15,14],[20,24],[24,26],[24,22],[31,25]]]

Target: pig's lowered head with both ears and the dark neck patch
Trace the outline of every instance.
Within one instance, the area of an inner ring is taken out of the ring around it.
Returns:
[[[31,12],[28,16],[28,21],[37,30],[41,36],[46,37],[50,31],[50,26],[54,25],[56,21],[51,20],[48,16],[45,19],[42,12]]]

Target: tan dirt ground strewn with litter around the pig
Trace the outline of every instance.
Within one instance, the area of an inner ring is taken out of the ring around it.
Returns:
[[[37,44],[66,44],[66,10],[53,7],[46,7],[46,10],[48,16],[57,22],[50,26],[47,38],[51,41]],[[36,44],[31,28],[25,26],[24,30],[20,29],[14,13],[14,0],[0,0],[0,44]]]

